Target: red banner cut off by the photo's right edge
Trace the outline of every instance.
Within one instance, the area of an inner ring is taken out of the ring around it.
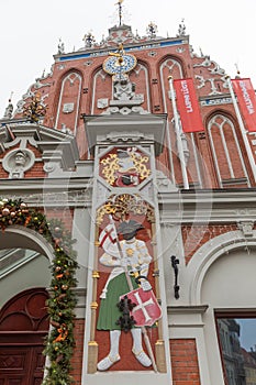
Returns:
[[[251,79],[232,79],[248,131],[256,131],[256,96]]]

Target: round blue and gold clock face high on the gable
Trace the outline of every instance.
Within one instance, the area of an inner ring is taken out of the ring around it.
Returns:
[[[132,70],[137,64],[133,55],[124,54],[108,57],[103,63],[103,69],[110,75],[125,74]]]

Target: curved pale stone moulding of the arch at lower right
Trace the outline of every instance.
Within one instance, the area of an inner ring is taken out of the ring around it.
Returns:
[[[205,305],[202,304],[202,286],[215,262],[223,255],[229,255],[240,250],[256,249],[256,231],[253,230],[252,233],[253,235],[248,238],[245,238],[240,230],[221,234],[203,244],[194,253],[187,271],[189,277],[189,301],[191,305]]]

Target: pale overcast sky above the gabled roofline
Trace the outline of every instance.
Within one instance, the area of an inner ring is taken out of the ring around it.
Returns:
[[[49,73],[58,40],[65,52],[84,46],[91,31],[99,42],[118,23],[118,0],[1,1],[0,117],[13,92],[14,107],[29,87]],[[125,24],[144,35],[152,21],[158,35],[175,37],[185,19],[196,53],[210,55],[232,77],[251,77],[256,88],[256,0],[124,0]]]

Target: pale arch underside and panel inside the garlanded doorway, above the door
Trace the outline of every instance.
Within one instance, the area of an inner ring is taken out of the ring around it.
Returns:
[[[54,250],[38,232],[22,226],[9,227],[0,233],[0,251],[3,257],[0,292],[4,293],[0,307],[24,289],[49,286],[48,266],[53,262]]]

